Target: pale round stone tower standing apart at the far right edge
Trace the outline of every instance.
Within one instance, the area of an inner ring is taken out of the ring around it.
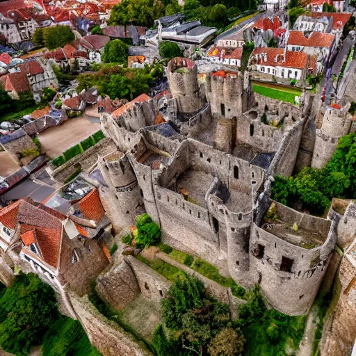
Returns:
[[[332,158],[339,138],[350,132],[352,116],[348,113],[350,104],[343,108],[327,108],[321,129],[316,129],[312,167],[323,168]]]

